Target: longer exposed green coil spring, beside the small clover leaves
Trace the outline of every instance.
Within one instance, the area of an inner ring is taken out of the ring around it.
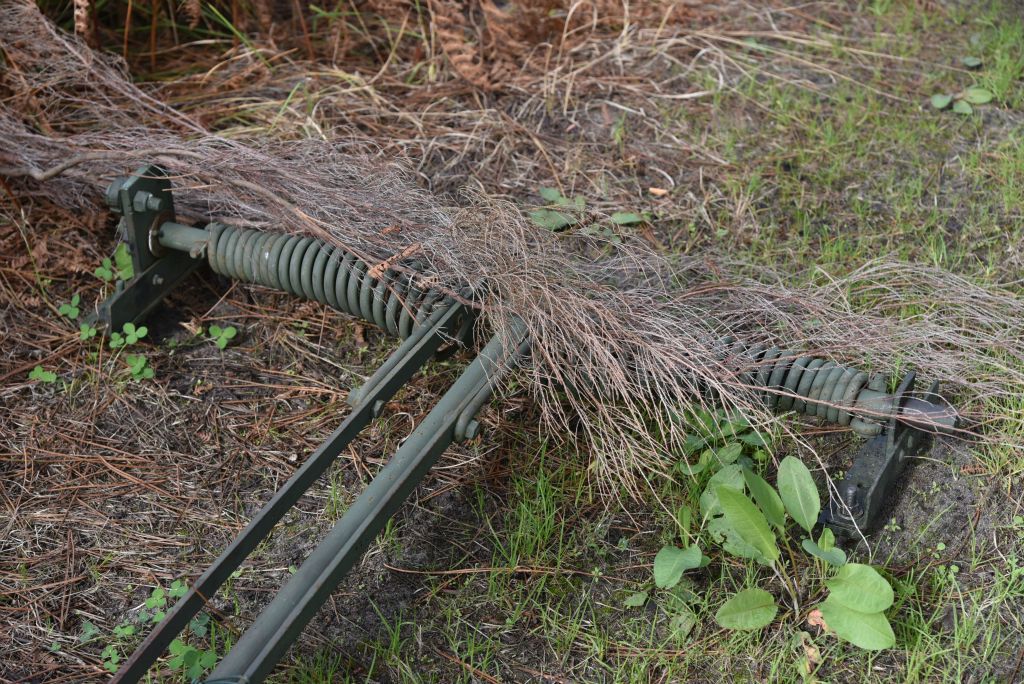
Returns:
[[[374,277],[366,261],[314,238],[222,223],[207,229],[215,272],[327,304],[401,339],[444,301],[440,290],[417,287],[407,272],[388,269]]]

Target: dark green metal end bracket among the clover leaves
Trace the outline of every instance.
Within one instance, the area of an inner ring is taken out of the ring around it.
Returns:
[[[121,215],[118,227],[135,271],[131,281],[118,281],[96,313],[117,331],[142,320],[203,260],[177,250],[165,254],[160,247],[160,226],[174,220],[171,181],[160,167],[143,166],[128,178],[116,178],[106,189],[106,203]]]

